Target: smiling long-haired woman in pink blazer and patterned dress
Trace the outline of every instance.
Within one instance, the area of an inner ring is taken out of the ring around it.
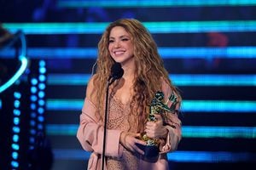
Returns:
[[[168,78],[156,43],[147,29],[134,19],[111,23],[98,44],[96,74],[87,85],[86,97],[77,133],[84,150],[92,152],[88,169],[100,169],[106,84],[110,68],[119,62],[124,75],[109,87],[108,130],[106,138],[107,169],[168,169],[166,153],[176,150],[181,139],[181,122],[177,118],[181,98]],[[166,105],[171,94],[177,96],[175,114],[155,115],[147,122],[148,108],[154,94],[162,91]],[[156,161],[144,159],[145,145],[141,133],[159,139]]]

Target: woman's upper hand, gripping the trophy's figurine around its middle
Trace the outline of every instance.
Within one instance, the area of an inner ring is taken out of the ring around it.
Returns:
[[[156,122],[147,122],[145,127],[145,133],[151,139],[166,138],[168,130],[163,125],[163,118],[160,115],[155,114]]]

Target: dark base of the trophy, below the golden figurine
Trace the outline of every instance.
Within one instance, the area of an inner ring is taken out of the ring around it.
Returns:
[[[159,156],[159,148],[155,145],[137,144],[141,150],[144,151],[143,158],[147,161],[157,161]]]

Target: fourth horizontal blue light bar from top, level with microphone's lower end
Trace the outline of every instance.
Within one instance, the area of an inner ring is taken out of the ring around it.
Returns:
[[[49,74],[49,85],[86,85],[91,74]],[[256,75],[170,74],[176,86],[256,86]]]

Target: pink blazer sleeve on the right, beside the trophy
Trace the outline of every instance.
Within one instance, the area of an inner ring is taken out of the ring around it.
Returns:
[[[166,82],[163,82],[162,91],[165,94],[166,105],[170,107],[172,105],[172,102],[169,100],[169,97],[172,95],[172,93],[174,93],[174,91]],[[177,111],[179,111],[180,105],[181,105],[181,99],[179,98],[179,96],[177,96],[177,105],[175,108]],[[173,150],[177,150],[177,144],[182,139],[182,131],[181,131],[182,123],[178,119],[177,113],[166,112],[163,115],[163,118],[166,124],[165,127],[168,130],[168,134],[166,139],[161,140],[160,142],[160,152],[166,153],[166,152],[171,152]]]

